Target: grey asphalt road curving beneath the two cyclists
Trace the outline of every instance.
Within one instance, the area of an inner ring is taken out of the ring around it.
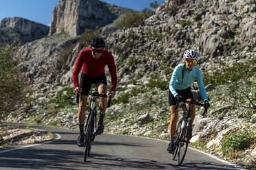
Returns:
[[[113,134],[96,136],[92,157],[83,162],[84,147],[76,145],[78,131],[39,125],[30,128],[52,132],[54,140],[0,149],[0,169],[242,169],[190,148],[182,166],[177,166],[167,153],[167,141]]]

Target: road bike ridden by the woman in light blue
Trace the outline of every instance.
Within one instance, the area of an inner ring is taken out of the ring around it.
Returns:
[[[185,103],[189,104],[189,107],[186,108]],[[200,104],[197,100],[192,99],[191,101],[182,100],[181,106],[183,109],[183,116],[180,119],[176,131],[175,131],[175,144],[174,144],[174,152],[172,154],[172,159],[175,160],[177,156],[177,165],[182,165],[182,162],[186,156],[186,150],[189,146],[189,140],[192,137],[192,124],[191,124],[191,106],[192,104],[197,106],[204,106],[204,104]],[[178,107],[176,105],[175,109]],[[203,116],[206,114],[207,109],[204,108]]]

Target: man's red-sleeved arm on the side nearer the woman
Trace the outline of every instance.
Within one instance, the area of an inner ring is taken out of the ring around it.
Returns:
[[[107,59],[107,66],[109,67],[109,73],[111,75],[111,91],[115,92],[117,85],[116,64],[111,53],[109,53],[109,57]]]

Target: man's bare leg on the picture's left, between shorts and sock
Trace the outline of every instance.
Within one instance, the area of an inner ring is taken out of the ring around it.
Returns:
[[[87,95],[80,95],[79,97],[79,107],[78,107],[78,125],[83,125],[85,123],[85,109],[87,105]]]

